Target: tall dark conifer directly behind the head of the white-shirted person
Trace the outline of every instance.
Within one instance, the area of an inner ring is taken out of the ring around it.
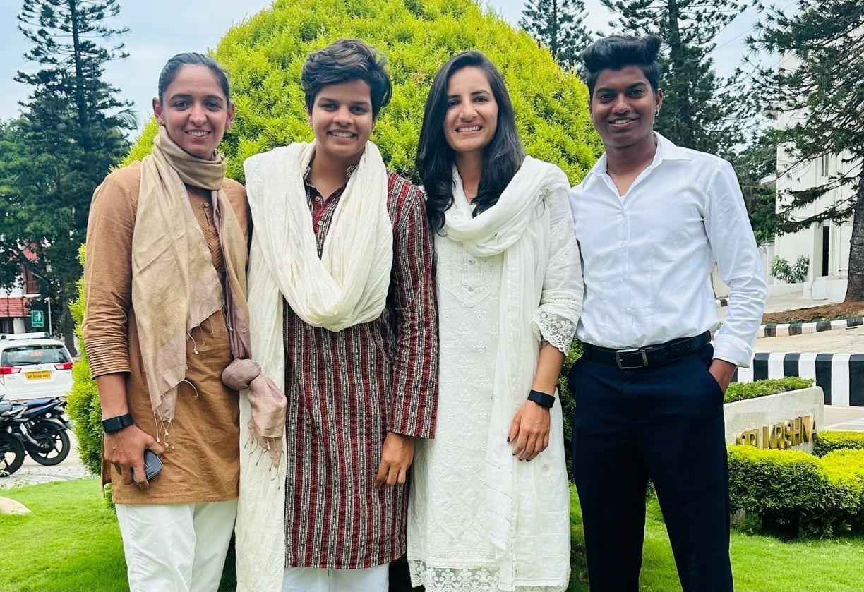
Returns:
[[[601,0],[626,35],[664,40],[664,105],[657,128],[680,146],[729,156],[741,140],[736,80],[723,80],[710,54],[746,0]]]

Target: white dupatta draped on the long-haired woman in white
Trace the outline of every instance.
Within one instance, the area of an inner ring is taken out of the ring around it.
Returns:
[[[515,570],[509,546],[516,527],[518,460],[506,436],[537,369],[539,342],[532,319],[543,292],[545,259],[550,248],[550,207],[544,198],[558,188],[569,189],[567,175],[554,164],[526,156],[499,201],[472,218],[472,208],[454,168],[454,204],[445,213],[443,234],[447,239],[461,242],[475,257],[504,253],[500,338],[485,471],[486,529],[497,550],[501,589],[512,589]],[[560,413],[556,415],[560,417]],[[532,503],[539,504],[536,499],[520,500],[520,513],[542,513],[542,508],[530,507]]]

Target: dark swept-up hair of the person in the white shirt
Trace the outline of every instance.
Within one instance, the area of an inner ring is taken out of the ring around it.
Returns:
[[[603,70],[620,70],[627,66],[637,66],[645,74],[651,90],[657,92],[660,80],[660,64],[657,54],[663,41],[657,35],[645,37],[626,37],[610,35],[595,41],[582,52],[582,61],[588,74],[588,97],[594,95],[594,86]]]

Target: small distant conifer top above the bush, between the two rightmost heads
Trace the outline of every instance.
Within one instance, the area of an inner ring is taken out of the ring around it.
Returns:
[[[592,41],[584,24],[586,14],[582,0],[528,0],[519,26],[549,48],[561,67],[572,69]]]

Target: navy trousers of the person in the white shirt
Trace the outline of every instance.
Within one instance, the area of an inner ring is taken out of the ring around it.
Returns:
[[[657,490],[684,592],[730,592],[729,480],[722,392],[710,345],[661,366],[581,358],[573,473],[593,592],[638,590],[645,488]]]

